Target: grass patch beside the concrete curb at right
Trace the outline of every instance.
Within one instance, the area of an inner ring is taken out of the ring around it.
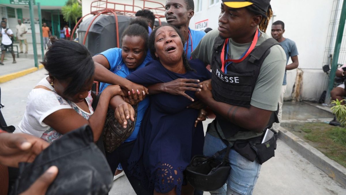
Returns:
[[[346,167],[346,128],[335,127],[322,122],[304,124],[283,124],[293,134],[308,141],[310,145]]]

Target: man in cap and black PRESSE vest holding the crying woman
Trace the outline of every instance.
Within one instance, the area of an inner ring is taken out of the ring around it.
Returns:
[[[212,69],[211,80],[201,83],[202,91],[195,94],[216,113],[204,138],[203,154],[212,156],[227,145],[234,146],[226,184],[211,194],[252,194],[260,174],[261,163],[255,160],[259,154],[251,155],[251,148],[242,151],[238,144],[261,139],[277,122],[274,111],[286,55],[265,34],[271,16],[270,0],[222,0],[218,29],[207,33],[192,52],[192,58]]]

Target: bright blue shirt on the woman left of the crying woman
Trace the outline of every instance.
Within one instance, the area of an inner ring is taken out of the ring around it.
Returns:
[[[112,71],[114,74],[121,76],[125,78],[126,76],[130,75],[133,71],[145,67],[146,63],[153,60],[153,58],[150,55],[150,52],[147,52],[147,56],[145,57],[143,63],[139,65],[136,69],[129,69],[125,65],[124,61],[122,61],[121,58],[121,49],[120,48],[111,48],[108,49],[102,53],[99,53],[107,58],[109,65],[110,65],[110,71]],[[97,54],[97,55],[99,55]],[[100,83],[100,93],[110,84],[108,83]],[[147,110],[149,105],[149,98],[145,98],[143,101],[139,102],[138,109],[137,109],[137,120],[135,124],[135,129],[133,130],[133,133],[128,137],[125,142],[134,141],[137,138],[140,124],[142,123],[143,116],[145,111]]]

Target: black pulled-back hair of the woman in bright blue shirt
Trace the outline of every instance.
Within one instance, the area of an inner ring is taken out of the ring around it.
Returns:
[[[122,33],[121,40],[125,35],[127,36],[140,36],[144,40],[145,50],[148,45],[148,23],[145,19],[137,18],[130,22],[130,25]]]

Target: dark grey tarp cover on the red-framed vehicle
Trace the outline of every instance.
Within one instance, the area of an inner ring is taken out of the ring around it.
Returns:
[[[79,43],[83,44],[86,29],[88,29],[91,20],[96,17],[85,19],[78,29]],[[119,27],[119,47],[121,46],[121,35],[134,17],[118,15]],[[117,47],[116,23],[114,15],[100,15],[92,23],[85,46],[91,55],[98,54],[110,48]]]

